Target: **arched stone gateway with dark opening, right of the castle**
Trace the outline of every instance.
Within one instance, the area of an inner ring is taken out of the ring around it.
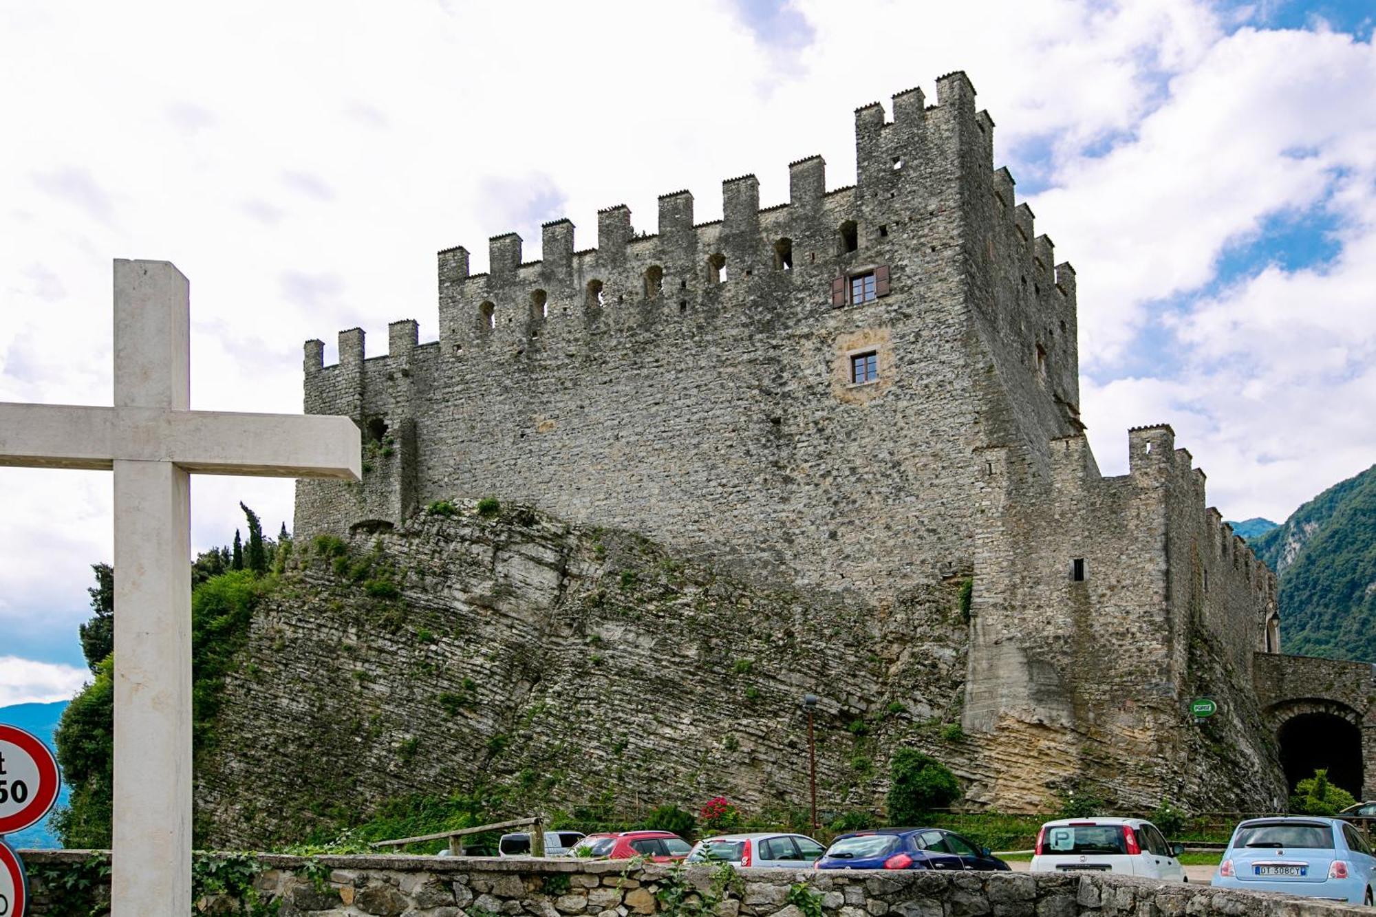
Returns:
[[[1326,768],[1357,799],[1376,793],[1376,669],[1303,655],[1256,654],[1254,677],[1285,782]]]

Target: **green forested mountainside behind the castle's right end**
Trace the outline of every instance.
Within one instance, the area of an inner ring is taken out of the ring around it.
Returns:
[[[1248,542],[1280,576],[1282,651],[1376,662],[1376,465]]]

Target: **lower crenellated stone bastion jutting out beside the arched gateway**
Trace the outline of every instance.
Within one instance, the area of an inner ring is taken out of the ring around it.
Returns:
[[[963,726],[989,756],[1024,760],[988,799],[1090,783],[1128,807],[1221,792],[1270,804],[1278,766],[1251,693],[1265,567],[1200,549],[1222,533],[1168,427],[1132,430],[1128,454],[1127,475],[1104,478],[1083,436],[1054,441],[1046,474],[1033,450],[984,453]],[[1198,695],[1221,705],[1207,727],[1186,709]]]

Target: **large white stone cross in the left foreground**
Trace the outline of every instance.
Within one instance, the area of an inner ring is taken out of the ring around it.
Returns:
[[[191,913],[189,472],[358,481],[348,417],[189,410],[190,302],[114,262],[114,406],[0,403],[0,465],[114,470],[111,917]]]

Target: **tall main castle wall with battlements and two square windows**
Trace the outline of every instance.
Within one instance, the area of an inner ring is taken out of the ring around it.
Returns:
[[[856,112],[856,187],[827,193],[812,157],[790,167],[786,205],[760,209],[754,176],[725,182],[718,223],[695,226],[684,191],[660,198],[655,235],[618,207],[599,215],[596,249],[575,252],[559,220],[541,262],[523,263],[513,234],[491,240],[487,274],[468,274],[464,249],[442,252],[438,344],[351,351],[337,366],[308,351],[308,410],[413,428],[414,453],[366,457],[362,487],[301,482],[297,529],[491,494],[824,588],[892,595],[969,570],[971,454],[987,431],[969,366],[967,198],[971,182],[995,182],[992,121],[963,74],[938,81],[938,99],[900,94],[892,123],[878,105]],[[998,219],[1000,238],[1024,231],[989,208],[978,219]],[[1010,270],[1050,259],[1021,245]],[[832,303],[835,278],[878,267],[888,295]],[[991,307],[1024,362],[1042,311],[1073,319],[1049,270],[1050,304],[1000,293]],[[1073,390],[1073,333],[1060,340],[1055,386]],[[852,386],[849,355],[871,348],[879,381]],[[999,373],[1033,377],[1021,363]],[[1040,425],[1044,441],[1065,427],[1039,398],[1018,403],[1024,434]]]

